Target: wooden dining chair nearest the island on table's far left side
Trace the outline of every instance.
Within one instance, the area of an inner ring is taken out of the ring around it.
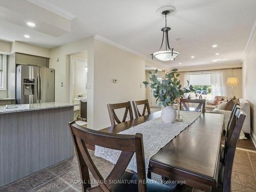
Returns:
[[[123,109],[125,108],[125,112],[123,115],[123,119],[122,121],[120,121],[115,113],[115,110],[117,109]],[[132,111],[132,105],[131,102],[123,102],[123,103],[115,103],[115,104],[108,104],[108,110],[109,110],[109,115],[110,115],[110,122],[111,122],[111,126],[114,126],[117,122],[117,124],[125,122],[126,118],[127,118],[127,114],[129,111],[129,115],[130,115],[130,120],[133,120],[133,111]]]

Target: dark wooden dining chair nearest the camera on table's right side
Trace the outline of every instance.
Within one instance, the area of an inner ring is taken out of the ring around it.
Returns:
[[[236,147],[245,117],[246,114],[237,108],[231,119],[231,122],[236,121],[236,123],[230,123],[229,126],[230,130],[227,145],[225,146],[225,158],[224,161],[220,162],[219,165],[218,187],[212,188],[212,191],[231,191],[231,174],[234,154],[236,153]]]

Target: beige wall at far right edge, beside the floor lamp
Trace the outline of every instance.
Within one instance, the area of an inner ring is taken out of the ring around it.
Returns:
[[[250,102],[251,105],[251,129],[256,135],[256,34],[243,62],[243,97]]]

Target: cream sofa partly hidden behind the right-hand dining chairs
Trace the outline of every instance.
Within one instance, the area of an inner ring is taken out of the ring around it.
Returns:
[[[246,99],[239,99],[241,110],[246,113],[244,124],[242,127],[243,133],[250,134],[251,123],[250,123],[250,103]],[[220,109],[214,109],[211,113],[220,113],[224,115],[225,130],[227,129],[227,122],[230,117],[231,111],[225,111]]]

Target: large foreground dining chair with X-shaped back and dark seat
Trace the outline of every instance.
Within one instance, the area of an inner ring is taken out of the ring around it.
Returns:
[[[104,133],[84,128],[75,123],[69,123],[70,132],[74,142],[82,191],[175,191],[177,185],[164,185],[151,179],[146,179],[144,147],[142,134],[122,135]],[[93,162],[87,145],[98,145],[121,151],[119,159],[106,179],[99,173],[99,169]],[[134,153],[136,154],[137,173],[126,172],[125,169],[130,163]],[[91,187],[89,170],[98,185]]]

